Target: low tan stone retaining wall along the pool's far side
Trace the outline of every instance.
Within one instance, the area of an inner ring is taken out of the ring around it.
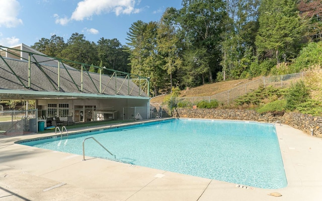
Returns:
[[[253,110],[235,110],[235,109],[176,109],[173,117],[181,118],[200,118],[200,119],[226,119],[226,120],[244,120],[258,121],[267,123],[276,123],[280,121],[296,129],[317,137],[322,137],[322,117],[313,117],[299,113],[286,113],[283,116],[274,116],[272,113],[261,115]]]

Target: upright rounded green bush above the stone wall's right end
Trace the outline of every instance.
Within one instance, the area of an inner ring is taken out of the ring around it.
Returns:
[[[310,96],[309,89],[305,86],[304,81],[300,80],[295,84],[291,84],[288,93],[286,94],[288,110],[295,110],[296,107],[302,103],[305,103]]]

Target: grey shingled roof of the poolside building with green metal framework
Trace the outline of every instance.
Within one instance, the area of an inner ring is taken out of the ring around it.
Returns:
[[[30,88],[28,87],[29,72]],[[82,72],[81,70],[70,68],[65,69],[63,65],[58,68],[38,63],[31,63],[29,71],[29,64],[26,61],[10,58],[0,59],[0,95],[2,96],[6,93],[6,96],[10,97],[9,94],[15,93],[16,96],[12,95],[11,98],[19,98],[22,95],[25,98],[26,96],[37,96],[38,98],[53,96],[77,98],[116,98],[126,96],[128,98],[148,98],[148,95],[128,77],[102,74],[101,80],[100,93],[99,73]]]

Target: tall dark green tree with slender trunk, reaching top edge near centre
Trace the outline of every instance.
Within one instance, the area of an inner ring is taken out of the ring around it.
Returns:
[[[218,48],[223,31],[225,4],[219,0],[183,0],[178,21],[191,46],[205,49],[208,80],[220,68],[220,49]],[[188,45],[189,45],[188,44]]]

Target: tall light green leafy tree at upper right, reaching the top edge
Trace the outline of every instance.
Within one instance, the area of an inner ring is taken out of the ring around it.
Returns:
[[[263,58],[280,63],[294,58],[300,48],[304,24],[294,0],[263,0],[260,6],[259,31],[256,36],[258,52]]]

